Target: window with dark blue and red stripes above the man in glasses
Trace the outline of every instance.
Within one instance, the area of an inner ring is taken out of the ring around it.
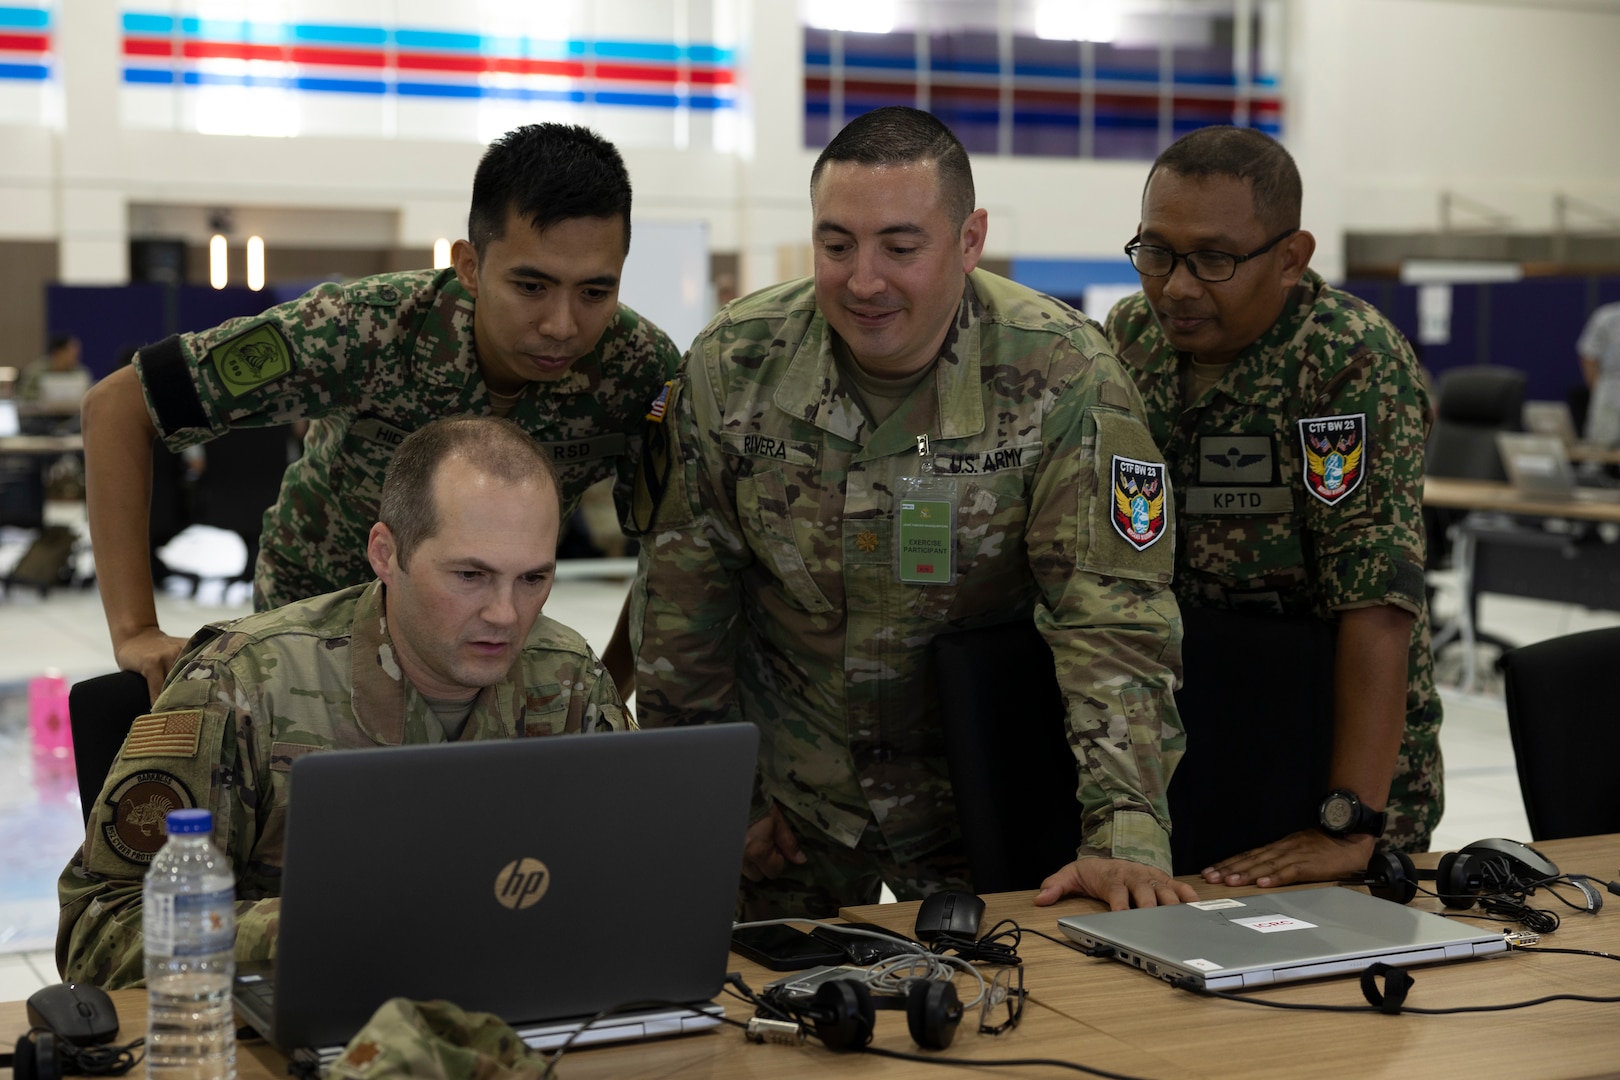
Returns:
[[[804,0],[804,144],[881,105],[970,154],[1142,159],[1212,123],[1281,134],[1281,0]]]

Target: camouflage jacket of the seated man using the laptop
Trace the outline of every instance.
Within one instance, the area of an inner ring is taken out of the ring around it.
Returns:
[[[293,761],[321,750],[442,743],[444,727],[399,670],[382,585],[360,585],[235,622],[186,644],[152,712],[134,722],[57,882],[63,978],[143,978],[141,879],[170,810],[214,811],[237,873],[237,959],[275,950]],[[484,687],[462,742],[632,727],[580,635],[541,615],[507,680]]]

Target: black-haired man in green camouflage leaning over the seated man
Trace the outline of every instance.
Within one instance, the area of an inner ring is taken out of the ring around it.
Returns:
[[[264,515],[254,607],[369,578],[366,529],[389,455],[439,416],[509,416],[544,444],[564,515],[616,478],[624,512],[646,406],[679,363],[619,303],[630,178],[614,146],[567,125],[497,139],[473,180],[454,267],[319,285],[251,319],[149,345],[84,400],[96,572],[118,665],[152,693],[181,638],[157,625],[147,554],[152,439],[168,450],[232,427],[308,419]],[[606,659],[629,693],[620,620]]]

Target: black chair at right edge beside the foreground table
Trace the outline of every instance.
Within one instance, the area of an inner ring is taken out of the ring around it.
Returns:
[[[1508,735],[1533,840],[1620,832],[1615,657],[1620,627],[1502,654]]]

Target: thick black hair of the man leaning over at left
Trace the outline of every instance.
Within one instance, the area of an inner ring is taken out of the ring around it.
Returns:
[[[569,123],[530,123],[489,144],[473,175],[467,238],[480,256],[517,212],[541,232],[575,217],[624,220],[630,249],[630,172],[608,139]]]

